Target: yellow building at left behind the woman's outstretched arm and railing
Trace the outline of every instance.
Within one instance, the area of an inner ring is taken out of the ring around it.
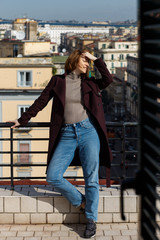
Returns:
[[[0,58],[0,121],[17,119],[40,95],[52,76],[51,58]],[[51,102],[32,122],[50,121]],[[0,137],[9,138],[9,129],[0,129]],[[13,131],[14,151],[47,151],[48,142],[28,138],[48,137],[48,129],[19,128]],[[18,140],[18,139],[23,140]],[[8,141],[0,142],[0,151],[9,151]],[[14,154],[14,163],[46,163],[46,154]],[[10,163],[9,154],[0,155],[1,163]],[[15,177],[45,176],[45,167],[15,167]],[[10,168],[0,168],[0,176],[10,176]]]

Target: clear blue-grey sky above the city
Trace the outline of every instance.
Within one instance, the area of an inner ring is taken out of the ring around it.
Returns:
[[[138,0],[2,0],[0,18],[39,20],[137,20]]]

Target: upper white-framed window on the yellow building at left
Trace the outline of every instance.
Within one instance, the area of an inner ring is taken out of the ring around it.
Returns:
[[[18,71],[18,87],[32,86],[32,71]]]

